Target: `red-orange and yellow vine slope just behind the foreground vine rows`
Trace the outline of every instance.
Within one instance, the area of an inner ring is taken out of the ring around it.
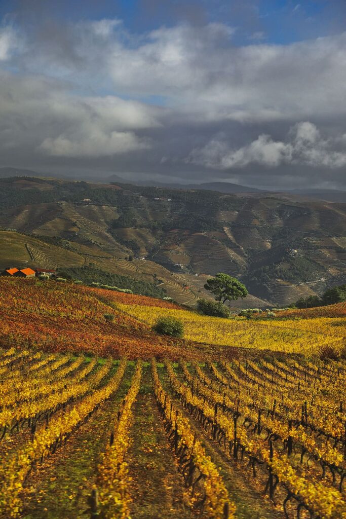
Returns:
[[[346,338],[340,319],[207,317],[162,299],[38,278],[0,277],[0,303],[0,344],[45,351],[193,359],[205,351],[228,357],[234,348],[255,347],[311,355],[326,345],[342,351]],[[104,317],[108,313],[113,321]],[[151,332],[159,317],[168,316],[184,323],[183,341]]]

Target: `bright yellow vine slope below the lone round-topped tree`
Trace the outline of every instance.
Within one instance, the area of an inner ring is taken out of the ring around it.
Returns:
[[[183,309],[150,308],[119,304],[128,315],[151,325],[158,317],[179,318],[185,325],[185,337],[199,343],[242,348],[270,349],[290,353],[315,354],[326,345],[341,350],[346,339],[346,319],[326,321],[246,320],[201,316]]]

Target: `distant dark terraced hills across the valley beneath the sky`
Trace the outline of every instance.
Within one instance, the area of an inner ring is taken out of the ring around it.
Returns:
[[[248,286],[236,307],[287,305],[345,279],[346,203],[34,177],[0,188],[4,229],[58,245],[81,265],[160,279],[181,304],[210,297],[204,279],[219,271]],[[21,261],[12,252],[0,262]]]

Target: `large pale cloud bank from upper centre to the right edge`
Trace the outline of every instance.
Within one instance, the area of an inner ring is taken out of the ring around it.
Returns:
[[[212,108],[220,120],[239,112],[265,121],[272,112],[295,118],[346,110],[346,33],[242,47],[232,45],[232,34],[224,24],[178,25],[133,45],[118,40],[107,71],[119,92],[161,95],[195,112]]]

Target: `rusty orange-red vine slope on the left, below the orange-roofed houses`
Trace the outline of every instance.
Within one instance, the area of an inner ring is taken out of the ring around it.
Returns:
[[[143,299],[147,307],[157,302],[171,305],[159,299],[120,292],[115,295],[113,291],[72,283],[0,278],[0,346],[129,359],[196,357],[192,348],[179,348],[184,343],[156,335],[148,325],[106,303],[124,296],[130,297],[127,301]],[[113,313],[115,319],[107,321],[106,313]],[[181,350],[178,354],[177,349]]]

